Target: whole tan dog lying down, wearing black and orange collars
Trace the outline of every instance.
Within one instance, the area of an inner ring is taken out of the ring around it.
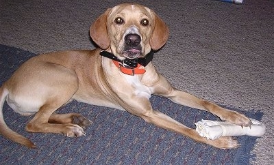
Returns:
[[[3,120],[3,103],[21,115],[34,115],[27,132],[85,135],[91,121],[77,113],[55,112],[71,100],[127,110],[148,123],[188,136],[220,149],[240,147],[232,137],[206,140],[162,112],[153,110],[152,94],[177,104],[207,110],[221,120],[250,126],[245,115],[221,108],[179,91],[160,75],[151,60],[164,46],[169,28],[153,10],[123,3],[106,10],[90,27],[94,50],[66,50],[32,57],[0,88],[0,132],[6,138],[36,148],[33,142],[10,130]],[[125,90],[126,89],[126,90]]]

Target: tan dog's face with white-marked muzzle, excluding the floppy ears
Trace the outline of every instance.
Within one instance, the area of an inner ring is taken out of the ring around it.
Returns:
[[[154,21],[147,7],[116,6],[112,8],[107,21],[110,47],[114,55],[135,59],[148,53]]]

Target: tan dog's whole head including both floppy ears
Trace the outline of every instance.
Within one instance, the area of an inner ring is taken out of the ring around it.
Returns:
[[[119,59],[144,57],[166,43],[169,29],[153,10],[123,3],[108,9],[90,27],[92,40]]]

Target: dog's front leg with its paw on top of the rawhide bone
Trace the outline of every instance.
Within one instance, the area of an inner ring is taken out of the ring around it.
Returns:
[[[162,76],[160,76],[158,82],[155,84],[153,91],[155,92],[155,94],[168,97],[170,100],[177,104],[211,112],[212,114],[220,117],[223,121],[229,121],[235,123],[236,125],[245,127],[251,125],[250,119],[248,117],[245,117],[245,115],[242,115],[234,110],[222,108],[221,106],[218,106],[212,102],[201,100],[184,91],[174,89],[173,87],[171,87],[169,82]]]

